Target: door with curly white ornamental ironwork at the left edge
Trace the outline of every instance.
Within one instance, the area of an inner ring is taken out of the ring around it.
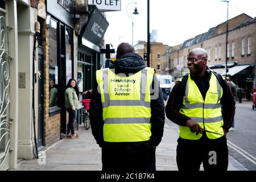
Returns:
[[[2,6],[1,6],[2,7]],[[10,59],[5,13],[0,10],[0,171],[9,169],[10,148]]]

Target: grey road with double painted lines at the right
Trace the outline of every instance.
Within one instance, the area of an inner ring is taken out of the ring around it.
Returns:
[[[250,171],[256,170],[256,110],[253,102],[236,104],[234,131],[227,134],[229,154]]]

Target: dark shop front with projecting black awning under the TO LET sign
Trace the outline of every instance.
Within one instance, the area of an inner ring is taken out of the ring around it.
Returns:
[[[88,22],[81,28],[77,53],[77,80],[79,92],[92,89],[95,74],[102,67],[100,48],[109,23],[95,5],[88,6]],[[80,96],[81,100],[82,96]]]

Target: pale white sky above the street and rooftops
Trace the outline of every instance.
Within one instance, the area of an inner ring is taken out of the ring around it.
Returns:
[[[135,2],[138,15],[133,15]],[[157,42],[177,46],[226,22],[227,5],[218,0],[150,0],[150,32],[158,31]],[[228,18],[242,13],[254,18],[256,0],[229,0]],[[109,22],[105,44],[116,49],[119,43],[132,43],[132,22],[134,45],[138,40],[147,41],[147,0],[121,0],[121,11],[108,11],[105,16]]]

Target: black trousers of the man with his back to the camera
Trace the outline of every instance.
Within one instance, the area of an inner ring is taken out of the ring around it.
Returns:
[[[102,171],[155,171],[155,148],[151,144],[103,144]]]

